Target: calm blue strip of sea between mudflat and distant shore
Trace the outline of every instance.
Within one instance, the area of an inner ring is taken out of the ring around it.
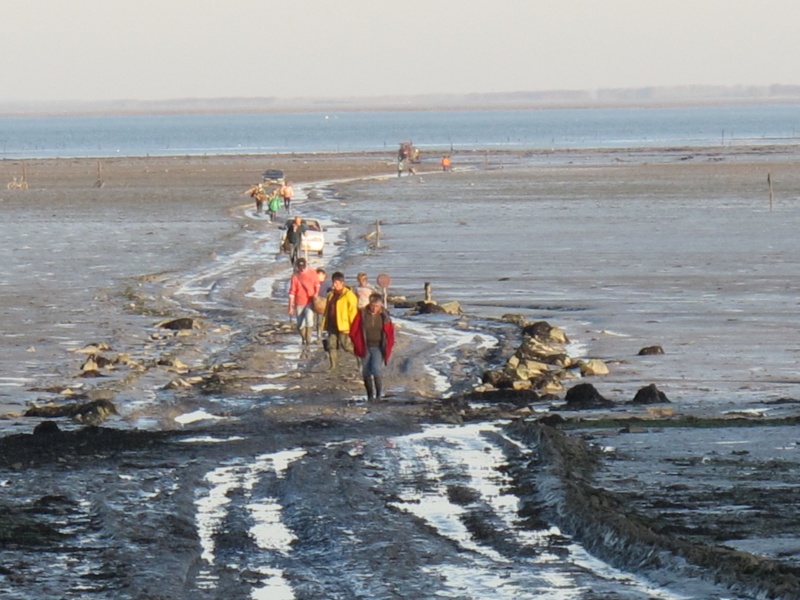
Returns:
[[[800,105],[0,117],[0,157],[794,144]]]

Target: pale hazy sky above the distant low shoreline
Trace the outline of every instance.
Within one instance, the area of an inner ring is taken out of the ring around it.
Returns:
[[[2,100],[800,84],[800,0],[0,0]]]

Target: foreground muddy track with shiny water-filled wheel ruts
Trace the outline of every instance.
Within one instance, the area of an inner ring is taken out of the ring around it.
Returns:
[[[529,453],[484,424],[219,467],[196,499],[194,597],[676,597],[521,514],[507,457]]]

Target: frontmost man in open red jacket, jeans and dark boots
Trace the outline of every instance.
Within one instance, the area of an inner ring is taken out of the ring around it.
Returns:
[[[383,397],[383,367],[389,364],[394,347],[394,324],[383,306],[383,297],[374,293],[366,308],[360,309],[350,326],[353,352],[361,359],[361,375],[367,401]]]

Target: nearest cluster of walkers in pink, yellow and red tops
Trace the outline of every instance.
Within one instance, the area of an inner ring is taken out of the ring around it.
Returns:
[[[328,353],[329,369],[339,369],[339,353],[355,354],[369,402],[383,397],[383,372],[394,347],[394,324],[383,296],[359,273],[355,289],[337,271],[326,286],[324,269],[313,269],[305,258],[294,261],[289,283],[289,315],[295,317],[304,345],[310,345],[316,327]],[[323,300],[324,299],[324,300]]]

